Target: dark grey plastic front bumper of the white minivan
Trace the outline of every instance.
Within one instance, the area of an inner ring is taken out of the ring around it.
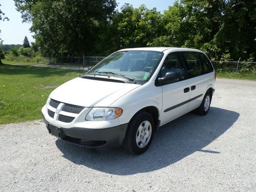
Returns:
[[[104,129],[56,127],[46,120],[43,113],[41,115],[49,133],[63,141],[86,148],[105,149],[122,146],[128,126],[126,123]]]

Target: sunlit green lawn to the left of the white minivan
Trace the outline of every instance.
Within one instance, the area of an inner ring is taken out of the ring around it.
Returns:
[[[51,91],[78,76],[68,69],[0,65],[0,124],[40,119]]]

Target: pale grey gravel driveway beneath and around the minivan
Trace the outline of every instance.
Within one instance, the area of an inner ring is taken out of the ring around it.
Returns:
[[[256,81],[229,79],[208,115],[160,127],[140,156],[62,142],[41,120],[0,125],[0,191],[256,191],[255,128]]]

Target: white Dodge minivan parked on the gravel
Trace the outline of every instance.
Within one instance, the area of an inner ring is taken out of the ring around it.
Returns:
[[[56,88],[41,114],[49,133],[80,146],[122,146],[141,154],[159,126],[209,111],[216,81],[204,52],[185,48],[117,51]]]

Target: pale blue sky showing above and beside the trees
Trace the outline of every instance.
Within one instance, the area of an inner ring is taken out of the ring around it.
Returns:
[[[120,8],[125,4],[129,3],[133,5],[134,8],[138,8],[140,5],[144,4],[148,9],[154,7],[157,8],[157,11],[163,13],[163,10],[167,10],[169,6],[172,6],[175,0],[116,0],[118,3],[117,9],[120,11]],[[25,36],[28,37],[29,42],[35,41],[32,37],[33,33],[29,31],[31,24],[22,23],[21,14],[16,11],[14,6],[14,1],[12,0],[0,0],[2,5],[0,9],[5,13],[10,20],[0,21],[0,38],[4,40],[3,44],[23,44]]]

